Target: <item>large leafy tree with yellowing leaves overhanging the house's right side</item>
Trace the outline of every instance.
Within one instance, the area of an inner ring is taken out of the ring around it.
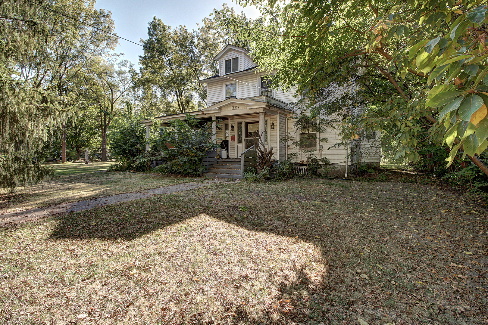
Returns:
[[[476,157],[488,145],[486,90],[479,88],[488,73],[486,0],[244,2],[268,17],[262,30],[221,23],[254,39],[254,58],[276,70],[277,84],[309,89],[319,101],[338,85],[335,103],[346,99],[347,109],[334,103],[317,109],[340,114],[344,138],[356,128],[396,125],[396,158],[418,160],[419,141],[447,142],[448,163],[463,150],[488,174]],[[370,110],[372,103],[381,109]],[[358,110],[361,125],[350,127]]]

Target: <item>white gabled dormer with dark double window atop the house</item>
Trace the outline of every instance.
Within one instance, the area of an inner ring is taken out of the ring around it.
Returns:
[[[224,49],[215,56],[215,59],[219,61],[220,75],[243,71],[255,66],[252,58],[249,56],[249,52],[234,45],[225,46]]]

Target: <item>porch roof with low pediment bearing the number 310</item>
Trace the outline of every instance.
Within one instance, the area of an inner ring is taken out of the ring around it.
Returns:
[[[229,98],[202,110],[189,112],[187,114],[196,118],[207,119],[211,118],[212,116],[243,116],[262,112],[267,115],[278,115],[279,113],[287,115],[292,113],[290,110],[285,108],[285,105],[285,102],[269,96],[255,96],[245,99]],[[167,122],[174,119],[185,119],[187,114],[165,115],[156,117],[155,119],[162,122]],[[141,123],[145,125],[152,125],[153,121],[151,119],[145,119],[142,120]]]

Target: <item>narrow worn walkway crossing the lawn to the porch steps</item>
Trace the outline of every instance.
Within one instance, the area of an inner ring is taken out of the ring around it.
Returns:
[[[147,190],[145,191],[146,193],[142,193],[142,192],[122,193],[122,194],[110,195],[105,197],[99,197],[91,200],[58,204],[53,207],[47,207],[42,209],[31,209],[31,210],[15,211],[11,213],[0,214],[0,226],[12,224],[12,223],[18,224],[24,221],[37,219],[51,213],[60,213],[60,212],[71,213],[75,211],[89,210],[107,204],[114,204],[119,202],[143,199],[154,194],[169,194],[169,193],[174,193],[179,191],[188,191],[199,187],[207,186],[208,184],[219,183],[226,180],[227,179],[225,178],[217,178],[217,179],[204,181],[202,183],[183,183],[183,184],[169,185],[157,189]]]

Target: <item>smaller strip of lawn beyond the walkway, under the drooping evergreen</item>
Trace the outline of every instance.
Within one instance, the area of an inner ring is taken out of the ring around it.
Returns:
[[[60,177],[20,188],[16,195],[6,190],[0,192],[0,214],[193,181],[192,178],[142,172],[107,172],[111,164],[113,162],[50,163]]]

